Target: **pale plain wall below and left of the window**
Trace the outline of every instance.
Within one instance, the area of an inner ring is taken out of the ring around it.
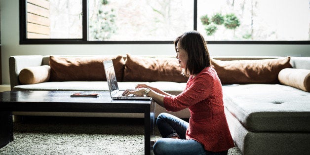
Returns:
[[[19,0],[0,0],[2,83],[9,84],[12,55],[175,55],[173,44],[19,44]],[[306,56],[310,45],[209,44],[211,56]]]

